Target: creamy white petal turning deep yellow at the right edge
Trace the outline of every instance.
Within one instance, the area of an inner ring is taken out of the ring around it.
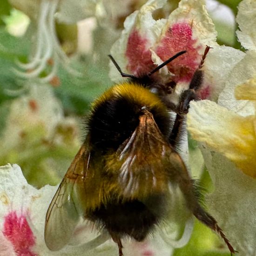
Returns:
[[[192,102],[187,126],[193,139],[225,155],[256,179],[255,116],[240,116],[212,101]]]

